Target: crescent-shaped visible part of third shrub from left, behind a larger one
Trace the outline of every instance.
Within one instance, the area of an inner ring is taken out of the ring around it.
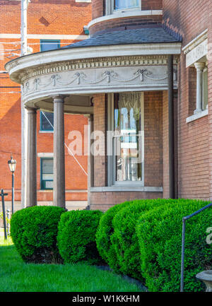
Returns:
[[[129,206],[132,201],[126,201],[122,204],[117,204],[112,206],[108,211],[106,211],[102,218],[100,219],[100,226],[96,233],[96,244],[98,247],[98,251],[102,259],[107,262],[114,271],[119,271],[119,266],[117,266],[116,253],[114,251],[114,247],[110,241],[111,235],[114,233],[114,228],[112,225],[112,219],[120,211],[122,208]],[[113,259],[115,264],[110,262],[110,259]]]

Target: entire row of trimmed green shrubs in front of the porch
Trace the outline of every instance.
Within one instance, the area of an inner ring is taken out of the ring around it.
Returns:
[[[11,218],[11,236],[26,262],[105,261],[114,271],[140,279],[150,291],[179,291],[182,217],[209,202],[195,200],[127,201],[100,211],[70,211],[34,206]],[[196,273],[212,268],[206,243],[212,209],[187,221],[185,290],[201,291]]]

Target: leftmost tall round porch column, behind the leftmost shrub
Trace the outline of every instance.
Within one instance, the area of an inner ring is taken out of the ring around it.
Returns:
[[[35,206],[37,205],[37,109],[25,108],[28,112],[26,206]]]

